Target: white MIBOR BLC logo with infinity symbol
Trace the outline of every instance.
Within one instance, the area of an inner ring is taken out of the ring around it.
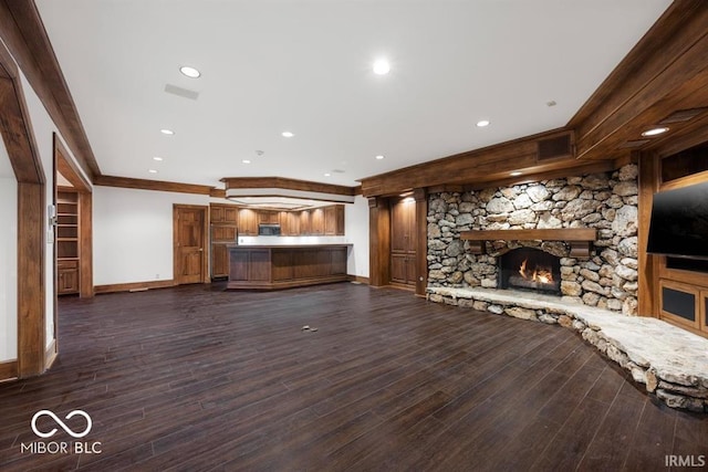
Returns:
[[[66,422],[62,421],[53,411],[51,410],[40,410],[32,417],[32,421],[30,426],[32,427],[32,431],[39,438],[49,439],[59,432],[58,428],[52,428],[49,431],[41,430],[37,422],[41,417],[50,417],[58,427],[60,427],[64,432],[71,436],[74,439],[81,439],[86,437],[91,432],[91,428],[93,427],[93,421],[88,413],[83,410],[73,410],[66,417],[64,417],[64,421],[70,422],[74,417],[81,417],[84,421],[79,422],[79,427],[83,427],[83,422],[85,422],[85,427],[83,430],[76,427],[77,421],[73,420],[70,423],[74,426],[74,429],[70,428]],[[60,433],[61,434],[61,433]],[[31,454],[100,454],[101,453],[101,442],[80,442],[80,441],[34,441],[30,443],[21,444],[21,452],[31,453]]]

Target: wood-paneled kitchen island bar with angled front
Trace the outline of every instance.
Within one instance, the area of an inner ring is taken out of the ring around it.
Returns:
[[[229,244],[230,290],[275,290],[348,280],[352,244]]]

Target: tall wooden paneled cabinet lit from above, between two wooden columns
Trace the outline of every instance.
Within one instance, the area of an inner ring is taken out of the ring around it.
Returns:
[[[416,202],[403,199],[391,208],[391,281],[416,284]]]

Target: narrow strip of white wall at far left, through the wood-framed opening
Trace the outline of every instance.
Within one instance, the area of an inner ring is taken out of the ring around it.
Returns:
[[[18,183],[0,139],[0,363],[18,358]]]

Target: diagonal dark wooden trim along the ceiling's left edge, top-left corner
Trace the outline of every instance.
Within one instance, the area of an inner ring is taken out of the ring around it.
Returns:
[[[101,174],[37,6],[0,1],[0,38],[11,51],[79,165],[90,179]]]

